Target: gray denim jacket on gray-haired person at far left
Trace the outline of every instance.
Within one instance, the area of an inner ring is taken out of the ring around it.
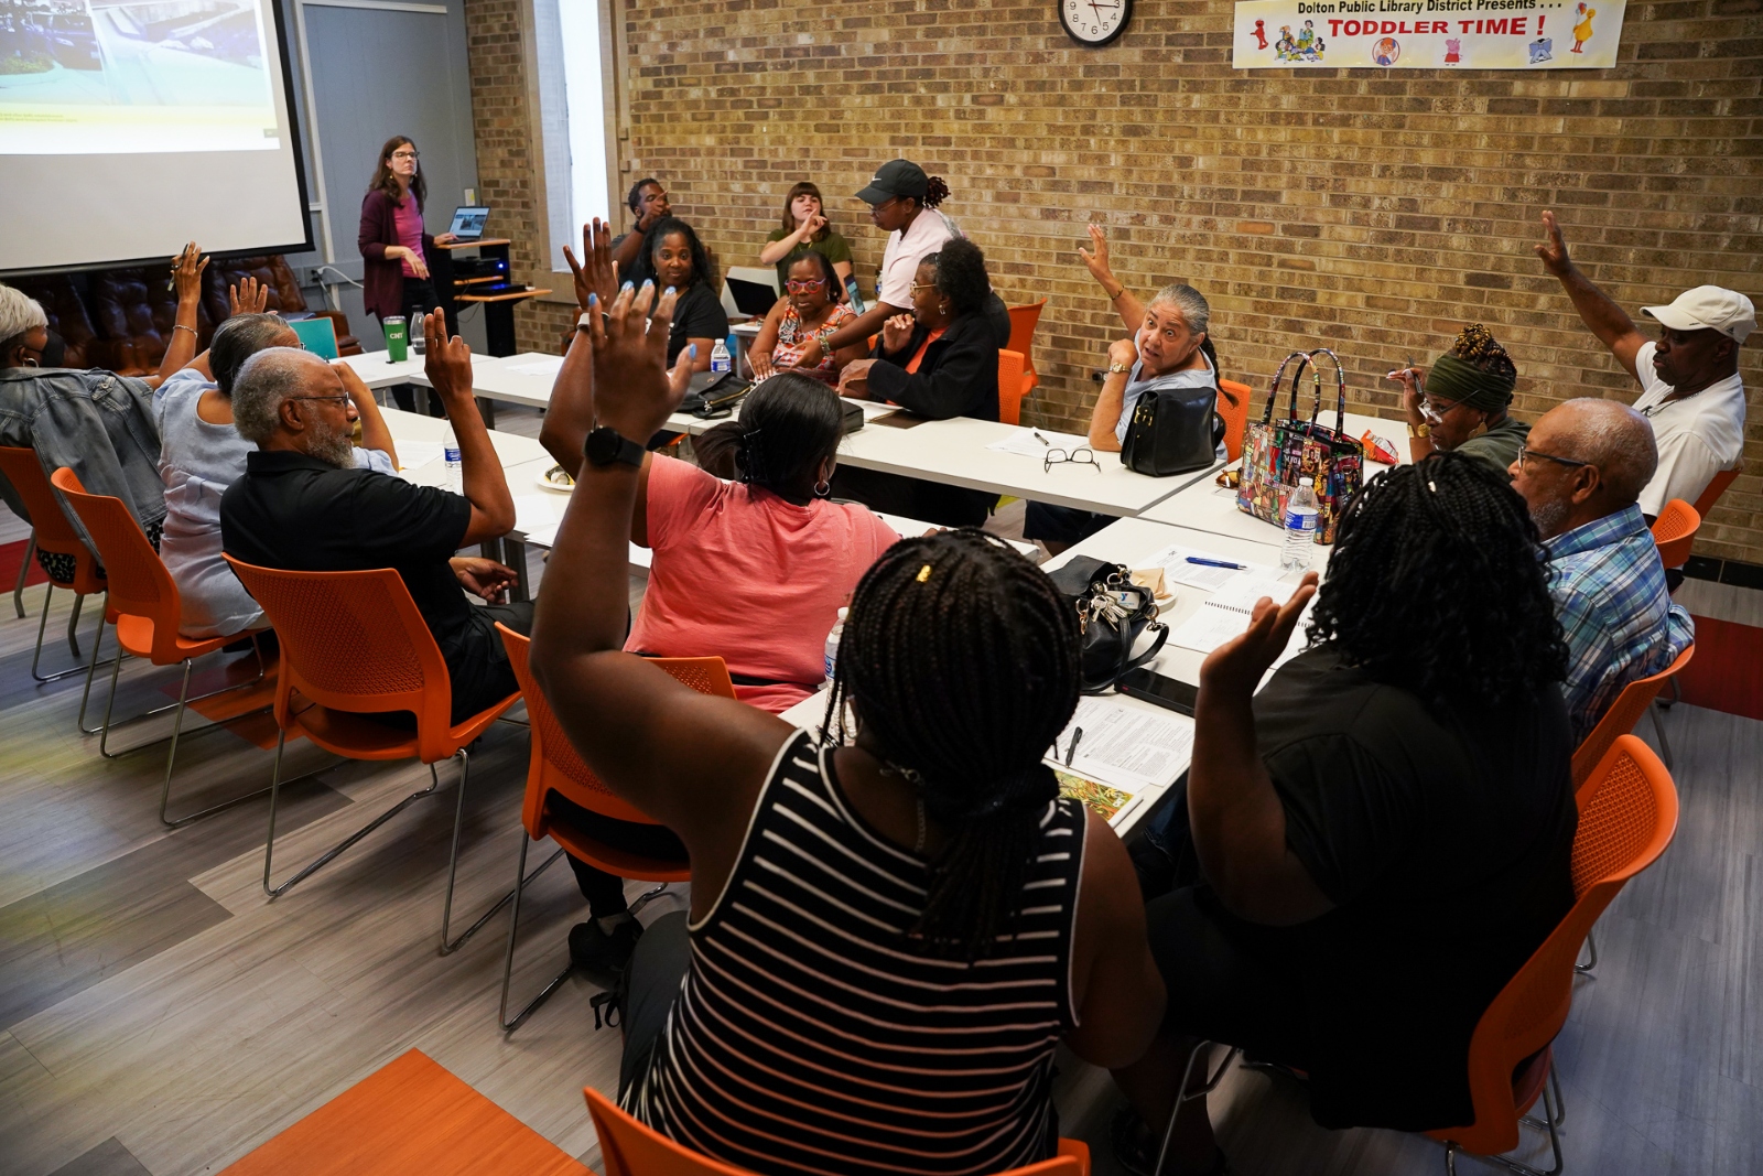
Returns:
[[[37,450],[44,476],[71,467],[92,494],[122,499],[143,531],[166,518],[153,390],[145,381],[100,368],[0,368],[0,444]],[[30,518],[5,478],[0,497]],[[67,511],[67,520],[90,547],[79,518]]]

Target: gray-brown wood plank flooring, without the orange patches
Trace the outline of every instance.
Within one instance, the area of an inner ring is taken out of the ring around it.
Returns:
[[[536,432],[531,414],[497,423]],[[23,529],[0,511],[0,541],[14,538]],[[42,589],[26,599],[35,610]],[[1733,619],[1763,615],[1752,598],[1721,605],[1744,612]],[[580,1088],[615,1084],[619,1035],[594,1031],[596,989],[571,979],[502,1035],[506,917],[453,956],[435,950],[455,765],[441,765],[441,795],[270,903],[264,802],[160,829],[162,751],[100,760],[97,739],[74,733],[79,679],[28,682],[35,612],[0,617],[0,1176],[217,1171],[413,1046],[598,1167]],[[58,594],[51,635],[65,617]],[[65,665],[65,642],[49,659]],[[171,670],[127,665],[118,709],[162,700],[167,682]],[[1763,723],[1680,705],[1666,725],[1678,841],[1599,924],[1597,977],[1580,982],[1557,1044],[1574,1172],[1763,1171]],[[467,919],[511,883],[525,756],[525,732],[502,725],[472,756]],[[291,758],[294,770],[326,763],[312,748]],[[220,799],[268,774],[270,753],[213,733],[180,753],[178,793]],[[294,788],[277,876],[427,783],[414,763],[338,765]],[[573,880],[554,867],[527,906],[517,991],[561,966],[582,917]],[[1061,1068],[1065,1134],[1086,1137],[1098,1176],[1111,1176],[1112,1086],[1070,1058]],[[1444,1165],[1419,1137],[1324,1132],[1299,1088],[1255,1072],[1234,1070],[1215,1107],[1241,1174]],[[1541,1151],[1529,1158],[1546,1165]]]

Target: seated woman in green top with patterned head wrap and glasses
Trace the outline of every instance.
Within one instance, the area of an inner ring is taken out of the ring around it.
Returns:
[[[1458,331],[1451,349],[1433,360],[1421,390],[1421,370],[1391,372],[1400,379],[1402,411],[1409,418],[1409,457],[1462,453],[1486,462],[1502,474],[1525,448],[1530,425],[1507,416],[1518,367],[1506,347],[1481,323]]]

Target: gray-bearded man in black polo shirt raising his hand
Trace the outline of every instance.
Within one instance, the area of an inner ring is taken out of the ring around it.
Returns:
[[[517,689],[495,622],[531,631],[532,603],[478,608],[460,591],[494,601],[513,584],[511,568],[455,552],[506,534],[515,501],[471,397],[471,349],[448,340],[437,316],[425,333],[464,494],[356,469],[354,406],[337,370],[309,351],[270,347],[233,383],[233,423],[257,451],[220,499],[220,536],[227,555],[264,568],[395,568],[446,659],[458,723]]]

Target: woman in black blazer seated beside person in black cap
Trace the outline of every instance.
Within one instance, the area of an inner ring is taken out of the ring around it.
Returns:
[[[882,324],[873,356],[844,367],[839,393],[897,404],[931,420],[998,420],[994,301],[980,247],[966,238],[947,242],[919,263],[911,314]],[[832,487],[874,510],[945,527],[977,527],[998,501],[989,490],[850,467],[839,467]]]

